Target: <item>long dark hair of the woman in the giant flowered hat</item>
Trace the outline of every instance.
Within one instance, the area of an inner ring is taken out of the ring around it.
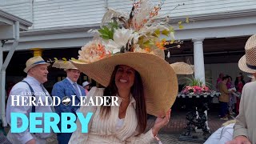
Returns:
[[[118,67],[119,66],[114,67],[114,71],[110,78],[110,84],[104,90],[103,97],[115,96],[116,94],[118,94],[118,87],[116,86],[114,81],[115,74],[117,74],[117,71],[118,71]],[[138,118],[139,134],[142,134],[146,130],[146,102],[144,98],[142,78],[138,73],[138,71],[136,70],[135,70],[134,85],[131,87],[130,93],[133,95],[136,101],[136,115]],[[110,116],[110,108],[111,106],[101,107],[101,115],[103,118],[107,118]]]

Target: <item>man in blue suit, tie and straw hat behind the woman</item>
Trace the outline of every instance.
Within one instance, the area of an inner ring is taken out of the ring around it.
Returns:
[[[80,96],[85,96],[85,90],[82,86],[78,85],[78,78],[80,77],[80,70],[76,68],[71,62],[68,61],[57,61],[54,62],[53,67],[60,68],[66,71],[66,78],[60,82],[54,84],[52,95],[58,96],[60,99],[68,96],[70,99],[72,95],[75,95],[75,105],[80,103]],[[60,116],[62,113],[74,113],[78,110],[79,106],[60,105],[55,106],[56,113]],[[58,127],[61,130],[61,122],[58,123]],[[58,143],[65,144],[69,142],[72,133],[58,133]]]

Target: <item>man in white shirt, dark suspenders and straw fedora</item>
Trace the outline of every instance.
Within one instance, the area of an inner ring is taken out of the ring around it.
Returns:
[[[49,65],[50,64],[45,62],[40,56],[28,59],[26,61],[26,68],[24,69],[27,76],[22,80],[22,82],[18,82],[16,85],[14,85],[14,87],[10,90],[10,96],[33,96],[36,99],[40,97],[42,102],[46,102],[46,97],[48,97],[48,101],[52,101],[50,94],[42,85],[44,82],[47,82],[47,66]],[[53,106],[11,106],[10,96],[8,98],[6,107],[6,122],[9,124],[11,122],[10,114],[14,112],[26,114],[26,116],[29,117],[31,112],[51,113],[54,111]],[[18,127],[22,126],[22,120],[18,119],[17,125]],[[43,128],[44,125],[44,118],[42,118],[42,125],[37,125],[37,127]],[[43,144],[46,143],[46,138],[50,138],[51,134],[52,133],[31,134],[29,129],[27,129],[22,133],[9,132],[7,134],[7,138],[11,143]]]

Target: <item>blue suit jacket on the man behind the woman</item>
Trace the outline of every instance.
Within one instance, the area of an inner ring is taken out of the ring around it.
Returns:
[[[85,89],[80,85],[78,85],[78,87],[81,90],[82,96],[85,96],[86,95]],[[80,102],[80,94],[76,94],[76,90],[74,90],[74,86],[66,78],[54,84],[52,95],[58,96],[61,100],[65,96],[68,96],[70,97],[71,101],[72,101],[71,95],[76,95],[75,104],[78,105],[78,103]],[[61,102],[58,106],[55,106],[56,113],[59,115],[65,112],[66,113],[71,112],[75,114],[76,110],[78,110],[80,106],[71,106],[71,105],[72,105],[72,102],[70,102],[70,105],[68,106],[63,105]]]

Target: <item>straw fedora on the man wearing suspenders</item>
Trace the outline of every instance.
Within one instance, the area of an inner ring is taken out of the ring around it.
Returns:
[[[24,72],[27,73],[32,67],[37,65],[46,64],[47,66],[50,66],[50,63],[45,62],[42,57],[35,56],[33,58],[30,58],[26,61],[26,68],[24,69]]]

